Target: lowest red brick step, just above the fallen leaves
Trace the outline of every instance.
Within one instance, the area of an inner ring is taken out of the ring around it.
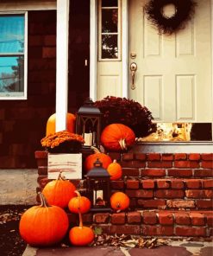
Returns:
[[[72,225],[78,215],[68,213]],[[106,234],[143,236],[210,237],[213,235],[213,211],[133,211],[126,213],[83,214],[85,225],[101,227]]]

